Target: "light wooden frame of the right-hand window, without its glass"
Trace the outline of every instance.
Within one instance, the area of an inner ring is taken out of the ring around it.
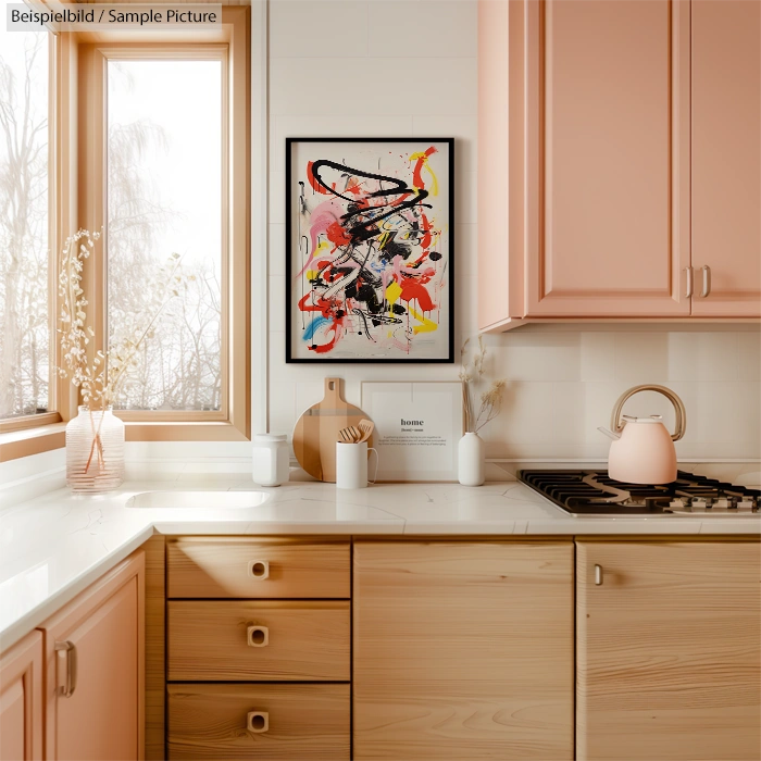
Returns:
[[[209,412],[115,411],[127,440],[250,439],[250,50],[249,9],[224,8],[222,38],[176,37],[135,42],[104,35],[79,36],[78,227],[100,229],[105,220],[105,64],[109,59],[223,60],[223,267],[222,409]],[[103,39],[105,37],[105,39]],[[86,93],[86,97],[83,96]],[[102,252],[102,247],[98,247]],[[226,254],[226,255],[225,255]],[[105,344],[104,257],[90,259],[83,280],[96,338]]]

